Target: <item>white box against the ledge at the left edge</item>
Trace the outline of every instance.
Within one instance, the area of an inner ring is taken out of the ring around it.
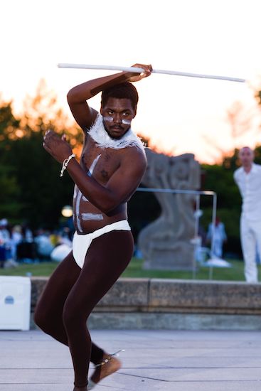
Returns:
[[[0,330],[29,330],[31,280],[0,276]]]

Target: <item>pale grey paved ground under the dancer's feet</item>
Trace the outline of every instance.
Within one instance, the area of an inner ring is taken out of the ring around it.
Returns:
[[[257,331],[93,331],[122,369],[97,391],[261,390]],[[68,348],[41,331],[0,331],[1,391],[72,391]]]

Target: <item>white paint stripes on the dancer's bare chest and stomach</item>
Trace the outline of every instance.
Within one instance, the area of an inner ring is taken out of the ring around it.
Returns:
[[[100,159],[100,156],[101,155],[98,155],[94,161],[92,161],[92,164],[89,168],[89,171],[87,173],[87,176],[92,176],[92,173],[95,169],[95,166],[97,164],[97,161]],[[73,198],[76,198],[75,200],[75,220],[76,220],[76,225],[78,227],[78,230],[80,232],[82,232],[82,226],[80,224],[80,219],[82,220],[103,220],[103,216],[102,214],[98,214],[98,213],[80,213],[80,202],[81,201],[84,201],[84,202],[89,202],[89,200],[87,200],[87,198],[82,195],[82,192],[79,190],[78,186],[75,185],[75,191],[74,191],[74,194],[73,194]]]

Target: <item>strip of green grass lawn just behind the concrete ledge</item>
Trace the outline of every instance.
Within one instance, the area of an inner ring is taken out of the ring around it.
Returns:
[[[213,280],[219,281],[245,281],[243,261],[229,261],[232,264],[230,268],[213,268]],[[0,269],[2,276],[26,276],[31,273],[32,276],[50,276],[57,262],[40,262],[36,264],[20,264],[14,269]],[[261,266],[259,266],[261,269]],[[122,277],[144,277],[144,278],[169,278],[169,279],[193,279],[192,272],[183,271],[160,271],[160,270],[143,270],[142,259],[132,258],[129,266],[122,274]],[[209,268],[200,267],[196,272],[196,279],[209,279]]]

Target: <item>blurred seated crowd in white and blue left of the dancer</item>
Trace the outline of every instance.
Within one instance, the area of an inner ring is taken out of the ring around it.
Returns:
[[[26,224],[10,225],[0,220],[0,267],[16,267],[20,263],[46,260],[60,262],[72,249],[69,227],[50,232],[42,228],[33,232]]]

